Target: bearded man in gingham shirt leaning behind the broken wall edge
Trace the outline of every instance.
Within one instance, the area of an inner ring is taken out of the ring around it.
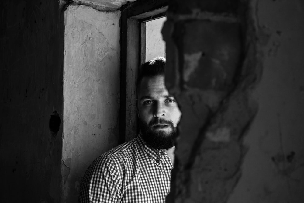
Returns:
[[[81,182],[79,202],[165,202],[181,111],[165,87],[164,66],[162,57],[142,65],[137,81],[140,133],[95,159]]]

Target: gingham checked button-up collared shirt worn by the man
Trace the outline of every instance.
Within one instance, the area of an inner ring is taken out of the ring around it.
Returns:
[[[81,181],[78,202],[165,202],[173,166],[140,135],[98,157]]]

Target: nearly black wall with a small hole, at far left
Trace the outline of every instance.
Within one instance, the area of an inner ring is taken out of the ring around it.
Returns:
[[[58,7],[57,1],[0,3],[1,202],[60,199],[62,125],[50,121],[63,113]]]

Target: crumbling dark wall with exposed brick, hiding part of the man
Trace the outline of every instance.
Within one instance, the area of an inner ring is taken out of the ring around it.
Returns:
[[[300,1],[171,2],[166,85],[183,115],[167,202],[301,202],[303,14]]]

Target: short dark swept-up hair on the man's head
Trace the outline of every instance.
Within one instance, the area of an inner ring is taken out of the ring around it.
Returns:
[[[137,88],[143,77],[154,77],[165,75],[166,59],[164,57],[156,57],[141,65],[138,71]]]

